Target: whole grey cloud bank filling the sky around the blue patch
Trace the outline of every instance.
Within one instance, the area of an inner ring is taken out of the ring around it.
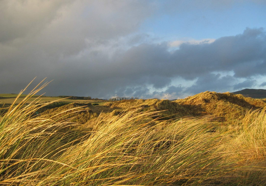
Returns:
[[[174,49],[138,33],[156,3],[36,2],[1,1],[0,93],[17,93],[37,76],[54,79],[47,95],[174,99],[252,88],[266,75],[265,28]]]

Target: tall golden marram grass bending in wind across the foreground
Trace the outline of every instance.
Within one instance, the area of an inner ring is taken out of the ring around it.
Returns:
[[[99,119],[90,132],[65,132],[76,124],[33,116],[48,103],[24,104],[38,90],[0,118],[0,185],[266,182],[265,110],[247,114],[232,140],[214,132],[210,116],[158,121],[156,111],[138,109]]]

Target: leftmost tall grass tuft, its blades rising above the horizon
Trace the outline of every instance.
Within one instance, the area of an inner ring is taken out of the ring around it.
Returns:
[[[43,81],[42,81],[43,82]],[[42,83],[41,82],[41,83]],[[35,117],[47,104],[34,101],[26,104],[48,83],[38,84],[22,102],[14,103],[0,117],[0,184],[28,184],[47,175],[51,162],[68,146],[74,134],[60,132],[69,123]],[[28,85],[29,86],[29,85]],[[27,87],[28,87],[27,86]],[[27,88],[26,87],[26,88]],[[23,93],[22,90],[17,98]],[[73,125],[73,124],[72,124]]]

